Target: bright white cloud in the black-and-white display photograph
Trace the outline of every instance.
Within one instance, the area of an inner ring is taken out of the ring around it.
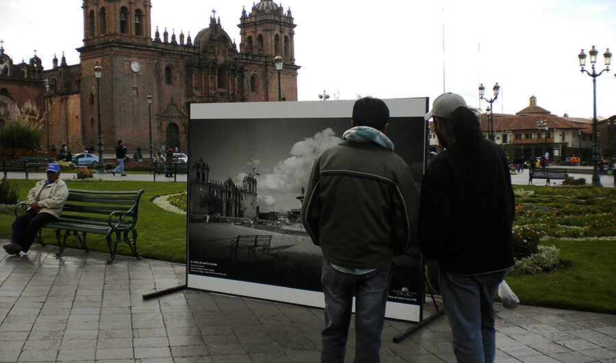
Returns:
[[[302,186],[306,186],[317,156],[324,149],[336,145],[342,139],[331,128],[326,128],[310,138],[296,142],[290,151],[290,157],[280,160],[274,171],[261,175],[257,189],[264,195],[283,192],[299,195]]]

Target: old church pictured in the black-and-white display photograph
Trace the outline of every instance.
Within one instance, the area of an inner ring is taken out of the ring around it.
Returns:
[[[210,179],[209,165],[200,158],[192,163],[189,173],[191,216],[256,219],[259,215],[254,171],[244,177],[241,186],[235,185],[231,177],[217,182]]]

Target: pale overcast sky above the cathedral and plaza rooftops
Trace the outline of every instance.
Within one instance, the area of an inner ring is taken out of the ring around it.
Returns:
[[[256,1],[258,2],[258,1]],[[211,10],[240,45],[242,6],[250,0],[151,0],[155,27],[192,38],[209,25]],[[277,4],[281,2],[277,1]],[[0,40],[5,53],[27,62],[34,49],[44,68],[53,54],[79,63],[84,16],[80,0],[0,0]],[[298,99],[318,99],[324,91],[339,99],[430,97],[443,90],[478,100],[483,83],[494,112],[515,113],[537,97],[552,114],[591,118],[592,78],[580,73],[577,55],[592,45],[600,55],[616,54],[613,0],[285,0],[295,28]],[[587,67],[589,68],[589,67]],[[616,61],[613,62],[616,68]],[[615,72],[597,78],[599,116],[616,114]]]

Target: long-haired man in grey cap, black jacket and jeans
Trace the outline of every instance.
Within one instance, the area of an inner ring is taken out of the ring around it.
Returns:
[[[483,138],[476,112],[444,93],[426,120],[446,149],[422,181],[419,238],[426,260],[438,260],[439,288],[458,362],[493,362],[493,302],[513,267],[515,212],[509,166],[501,149]]]

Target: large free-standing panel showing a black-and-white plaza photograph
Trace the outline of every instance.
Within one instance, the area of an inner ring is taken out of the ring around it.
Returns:
[[[386,99],[387,136],[420,182],[428,102]],[[314,160],[342,140],[355,101],[192,104],[189,121],[190,288],[324,307],[320,247],[299,212]],[[386,316],[419,321],[417,241],[394,258]]]

